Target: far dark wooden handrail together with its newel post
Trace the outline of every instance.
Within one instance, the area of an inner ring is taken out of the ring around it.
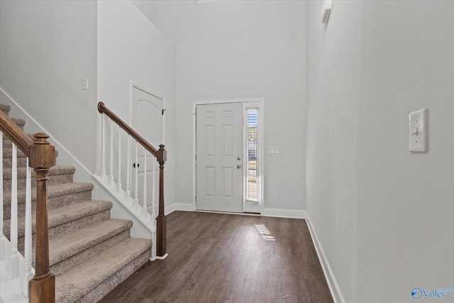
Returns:
[[[118,126],[123,128],[129,136],[140,143],[140,145],[155,156],[157,162],[159,162],[159,213],[156,218],[156,255],[165,257],[165,255],[167,255],[167,217],[164,213],[164,164],[165,161],[167,161],[167,150],[165,150],[164,145],[162,144],[159,145],[159,150],[154,148],[153,145],[148,143],[148,141],[134,131],[131,126],[128,126],[128,124],[114,114],[113,111],[108,109],[103,102],[98,102],[98,111],[100,114],[106,114],[106,116],[112,119]]]

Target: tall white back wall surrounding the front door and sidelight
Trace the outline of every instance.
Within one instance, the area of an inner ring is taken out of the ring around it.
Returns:
[[[265,99],[265,207],[306,209],[304,1],[156,1],[177,48],[177,201],[192,204],[194,101]]]

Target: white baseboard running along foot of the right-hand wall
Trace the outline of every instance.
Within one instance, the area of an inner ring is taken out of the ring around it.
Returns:
[[[319,238],[317,237],[309,214],[306,214],[306,222],[307,226],[309,227],[309,233],[311,233],[312,242],[314,242],[316,253],[319,256],[321,268],[323,269],[323,273],[325,274],[326,282],[328,283],[333,301],[334,303],[345,303],[345,299],[343,298],[341,292],[341,287],[339,287],[336,277],[334,276],[334,272],[329,265],[328,258],[326,258],[325,252],[323,251]]]

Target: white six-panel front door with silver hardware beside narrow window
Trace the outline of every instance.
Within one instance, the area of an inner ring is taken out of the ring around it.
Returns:
[[[243,212],[243,104],[196,106],[196,209]]]

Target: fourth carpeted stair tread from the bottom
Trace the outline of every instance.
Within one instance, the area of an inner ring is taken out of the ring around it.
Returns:
[[[60,197],[67,194],[76,194],[78,192],[87,192],[93,189],[92,183],[63,183],[48,185],[48,199]],[[18,189],[17,191],[18,204],[26,202],[26,189]],[[31,200],[36,200],[36,187],[31,189]],[[11,205],[11,191],[4,192],[4,206]]]

